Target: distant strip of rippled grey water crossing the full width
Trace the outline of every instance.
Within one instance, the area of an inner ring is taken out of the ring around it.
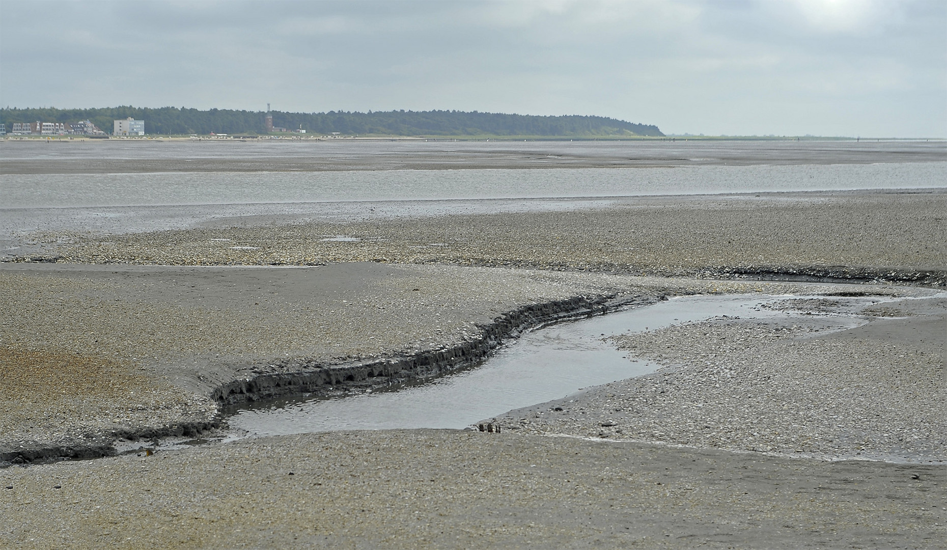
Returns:
[[[7,174],[3,208],[614,197],[947,186],[947,163]]]

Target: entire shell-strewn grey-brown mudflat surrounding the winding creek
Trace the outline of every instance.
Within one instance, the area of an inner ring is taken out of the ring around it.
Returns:
[[[916,187],[13,235],[35,249],[0,266],[4,456],[140,451],[0,470],[0,544],[943,546],[947,199]],[[784,294],[771,307],[811,320],[618,335],[663,368],[497,416],[499,434],[152,439],[696,293]]]

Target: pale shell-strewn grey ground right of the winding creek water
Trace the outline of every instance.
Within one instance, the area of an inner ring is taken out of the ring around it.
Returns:
[[[827,310],[834,300],[826,299],[786,302],[810,315],[845,309]],[[674,368],[498,420],[529,434],[943,464],[947,299],[894,304],[889,311],[910,316],[844,331],[836,318],[813,315],[618,336],[634,358]]]

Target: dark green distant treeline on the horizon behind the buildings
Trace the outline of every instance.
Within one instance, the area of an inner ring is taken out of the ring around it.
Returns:
[[[534,116],[462,111],[378,111],[368,113],[281,113],[271,112],[273,125],[290,131],[302,126],[306,133],[329,135],[430,135],[430,136],[550,136],[606,137],[662,136],[657,126],[634,124],[605,116]],[[91,120],[98,128],[112,132],[113,121],[132,116],[145,121],[146,133],[160,134],[263,134],[263,112],[211,109],[199,111],[177,107],[148,109],[105,107],[102,109],[0,109],[0,122],[9,132],[13,122],[69,122]]]

